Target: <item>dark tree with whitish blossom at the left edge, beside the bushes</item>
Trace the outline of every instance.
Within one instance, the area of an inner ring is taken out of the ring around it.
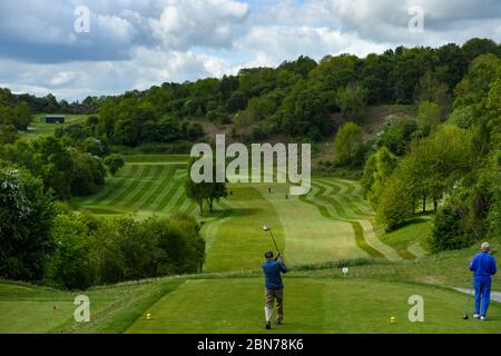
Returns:
[[[0,276],[41,280],[56,209],[40,179],[0,161]]]

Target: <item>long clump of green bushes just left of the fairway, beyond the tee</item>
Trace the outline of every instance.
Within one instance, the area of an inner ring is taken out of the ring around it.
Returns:
[[[86,289],[202,270],[205,240],[193,218],[96,219],[63,210],[52,224],[56,247],[45,265],[48,285]]]

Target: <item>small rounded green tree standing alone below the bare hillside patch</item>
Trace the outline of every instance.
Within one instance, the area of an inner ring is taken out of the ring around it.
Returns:
[[[353,122],[344,125],[337,132],[334,149],[338,166],[360,167],[363,164],[365,155],[362,128]]]

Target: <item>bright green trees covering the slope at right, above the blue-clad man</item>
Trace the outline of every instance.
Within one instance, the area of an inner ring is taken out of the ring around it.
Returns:
[[[369,141],[362,127],[348,122],[334,142],[337,167],[363,170],[364,194],[386,230],[419,211],[435,212],[429,241],[435,251],[501,233],[499,53],[473,58],[449,100],[425,95],[441,87],[420,86],[432,90],[418,91],[415,118],[389,117]]]

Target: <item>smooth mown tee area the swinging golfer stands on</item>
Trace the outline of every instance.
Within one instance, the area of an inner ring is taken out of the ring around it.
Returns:
[[[464,296],[453,290],[342,278],[285,284],[284,325],[275,333],[499,333],[499,322],[461,320]],[[190,279],[151,306],[151,320],[141,317],[127,333],[263,333],[263,288],[258,278]],[[412,295],[424,299],[424,323],[409,322]],[[500,306],[490,314],[499,320]]]

